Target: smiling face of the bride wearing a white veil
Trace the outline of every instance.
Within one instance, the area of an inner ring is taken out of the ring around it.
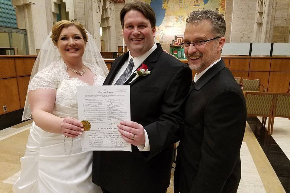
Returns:
[[[82,55],[85,52],[85,41],[82,33],[74,25],[64,27],[61,30],[56,46],[65,62],[82,60]]]

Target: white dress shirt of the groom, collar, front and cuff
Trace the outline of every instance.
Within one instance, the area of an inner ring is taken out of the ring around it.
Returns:
[[[144,60],[157,48],[157,45],[156,43],[154,42],[154,45],[152,46],[152,48],[150,50],[148,50],[145,54],[143,55],[140,55],[140,56],[137,56],[137,57],[132,57],[131,56],[131,52],[129,51],[129,57],[128,59],[124,62],[123,66],[120,68],[120,70],[117,72],[113,82],[111,85],[114,85],[117,80],[121,77],[121,75],[123,74],[123,72],[126,70],[128,64],[129,64],[129,61],[131,58],[133,58],[133,62],[134,62],[134,66],[133,66],[133,69],[132,69],[132,72],[131,72],[131,75],[134,73],[134,71],[136,71],[136,69],[142,64],[142,62],[144,62]],[[130,76],[128,77],[130,78]],[[127,78],[127,80],[128,80]],[[127,81],[126,80],[126,81]],[[125,82],[126,82],[125,81]],[[148,139],[148,134],[146,132],[146,130],[144,129],[144,132],[145,132],[145,144],[142,144],[142,145],[138,145],[138,149],[140,151],[150,151],[150,144],[149,144],[149,139]]]

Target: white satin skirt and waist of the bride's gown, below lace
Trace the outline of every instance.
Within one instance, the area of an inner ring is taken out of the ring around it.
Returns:
[[[77,109],[60,104],[55,105],[53,114],[78,117]],[[22,171],[14,193],[102,193],[92,183],[92,151],[82,151],[80,137],[73,142],[65,138],[64,143],[63,134],[43,131],[33,122],[20,161]]]

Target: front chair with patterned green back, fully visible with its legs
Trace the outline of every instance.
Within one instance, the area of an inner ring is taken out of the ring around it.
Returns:
[[[271,131],[271,120],[273,106],[275,102],[276,93],[264,92],[246,92],[247,116],[261,116],[263,117],[262,125],[265,127],[267,117],[268,122],[268,135]]]

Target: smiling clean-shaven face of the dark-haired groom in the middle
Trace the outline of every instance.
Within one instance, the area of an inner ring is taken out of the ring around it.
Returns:
[[[125,14],[123,36],[132,57],[143,55],[152,48],[155,30],[142,12],[133,9]]]

